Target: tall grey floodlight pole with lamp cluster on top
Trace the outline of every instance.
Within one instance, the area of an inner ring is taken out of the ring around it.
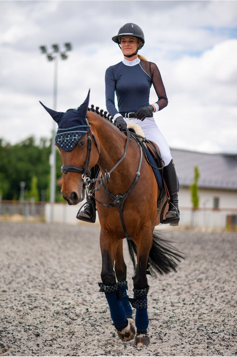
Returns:
[[[42,53],[47,55],[49,61],[54,61],[54,85],[53,85],[53,110],[57,110],[57,87],[58,87],[58,55],[61,55],[62,60],[67,59],[65,52],[71,51],[71,44],[65,43],[65,50],[60,51],[59,46],[54,44],[53,55],[52,53],[47,52],[46,46],[40,46]],[[50,203],[51,203],[51,212],[50,212],[50,222],[53,222],[53,205],[55,202],[55,186],[56,186],[56,147],[54,139],[56,136],[56,122],[53,121],[53,130],[52,130],[52,145],[51,145],[51,154],[49,156],[50,164]]]

